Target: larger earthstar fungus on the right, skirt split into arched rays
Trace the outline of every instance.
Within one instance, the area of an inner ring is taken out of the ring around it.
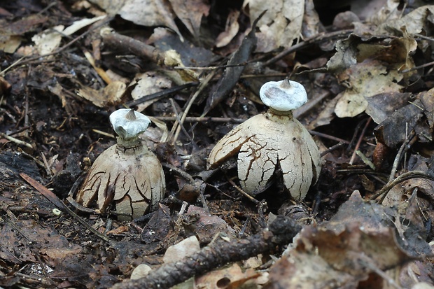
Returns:
[[[288,79],[270,81],[260,89],[269,110],[249,118],[218,141],[208,158],[209,169],[238,153],[241,188],[256,195],[281,171],[283,185],[295,200],[304,199],[321,171],[318,146],[292,110],[307,101],[303,85]]]

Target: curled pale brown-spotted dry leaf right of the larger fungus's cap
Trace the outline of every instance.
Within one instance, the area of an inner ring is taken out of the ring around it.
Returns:
[[[394,38],[390,43],[376,38],[364,41],[351,35],[337,41],[336,54],[327,66],[347,89],[337,95],[335,113],[339,118],[353,117],[367,108],[367,97],[381,93],[400,92],[401,80],[412,73],[399,73],[414,66],[411,55],[416,41],[408,36]]]

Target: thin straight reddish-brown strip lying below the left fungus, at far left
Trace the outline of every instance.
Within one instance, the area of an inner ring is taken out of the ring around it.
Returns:
[[[76,213],[71,211],[71,209],[69,209],[69,207],[66,206],[64,204],[64,202],[62,202],[55,194],[53,194],[50,190],[48,190],[48,188],[45,188],[45,186],[41,185],[41,183],[38,183],[33,178],[27,176],[27,174],[24,174],[24,173],[20,173],[20,176],[22,178],[24,178],[25,181],[27,181],[27,183],[29,183],[33,188],[38,190],[38,192],[41,192],[41,194],[44,197],[46,197],[50,202],[52,202],[52,204],[55,204],[55,206],[57,206],[57,208],[69,213],[69,215],[71,215],[74,219],[78,220],[78,222],[81,225],[85,226],[87,228],[87,230],[90,230],[90,232],[97,235],[97,237],[99,237],[100,239],[103,239],[104,241],[107,241],[107,242],[113,241],[109,237],[107,237],[104,234],[101,234],[100,232],[95,230],[91,225],[87,224],[86,221],[83,220],[83,218],[80,218],[80,216],[78,216]]]

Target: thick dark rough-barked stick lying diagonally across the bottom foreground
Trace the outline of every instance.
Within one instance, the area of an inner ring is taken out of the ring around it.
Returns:
[[[277,216],[267,229],[247,239],[230,240],[220,233],[213,242],[190,257],[162,265],[144,278],[118,283],[112,289],[171,288],[192,276],[207,273],[228,262],[246,260],[272,251],[276,246],[287,245],[300,230],[300,225],[290,218]]]

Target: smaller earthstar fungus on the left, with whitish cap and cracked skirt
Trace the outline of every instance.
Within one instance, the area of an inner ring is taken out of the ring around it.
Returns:
[[[97,157],[78,191],[76,201],[104,213],[113,208],[118,219],[142,216],[165,195],[165,174],[160,161],[144,146],[139,135],[151,120],[132,109],[110,115],[117,143]]]

